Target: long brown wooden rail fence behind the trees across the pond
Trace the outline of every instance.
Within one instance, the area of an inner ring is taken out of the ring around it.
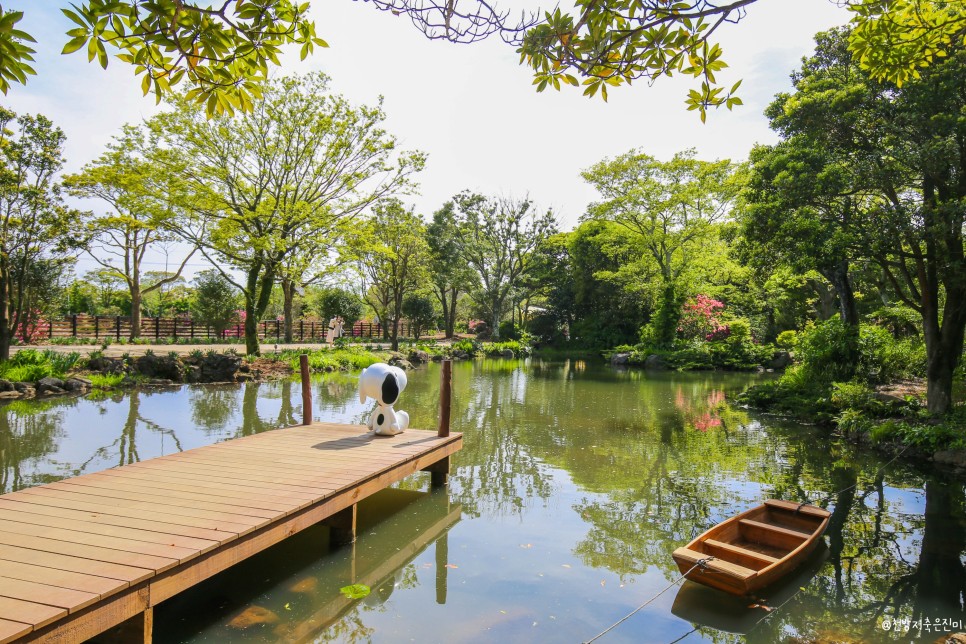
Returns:
[[[297,342],[325,342],[328,325],[320,320],[296,320],[292,325],[292,339]],[[258,337],[262,340],[280,340],[285,332],[280,320],[264,320],[258,323]],[[357,338],[382,338],[382,325],[372,322],[356,322],[345,335]],[[412,335],[406,322],[399,324],[400,337]],[[61,320],[49,320],[40,324],[33,336],[34,341],[55,338],[93,338],[94,340],[120,340],[131,336],[131,318],[125,315],[72,315]],[[195,323],[184,318],[141,318],[141,337],[165,339],[226,339],[245,337],[242,324],[233,325],[218,334],[207,324]]]

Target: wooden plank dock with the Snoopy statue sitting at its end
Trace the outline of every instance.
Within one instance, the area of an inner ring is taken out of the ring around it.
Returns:
[[[0,644],[120,624],[149,642],[158,603],[319,522],[351,542],[359,500],[421,470],[443,482],[461,446],[314,423],[0,496]]]

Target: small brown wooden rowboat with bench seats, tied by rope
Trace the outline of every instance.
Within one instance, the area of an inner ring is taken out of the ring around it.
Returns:
[[[814,505],[769,499],[678,548],[674,561],[692,581],[749,595],[801,565],[820,543],[830,516]],[[702,559],[709,560],[694,568]]]

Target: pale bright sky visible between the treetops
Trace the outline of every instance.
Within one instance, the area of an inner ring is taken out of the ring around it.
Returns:
[[[532,3],[532,0],[530,0]],[[112,59],[108,69],[88,63],[85,51],[61,55],[72,23],[60,12],[67,0],[18,0],[21,28],[37,39],[37,76],[14,85],[0,104],[17,113],[41,113],[67,135],[66,172],[97,158],[125,123],[154,114],[133,69]],[[512,7],[504,3],[508,8]],[[549,7],[549,5],[547,5]],[[529,197],[550,207],[570,230],[597,198],[580,172],[605,158],[639,149],[660,159],[695,148],[704,160],[747,158],[756,143],[772,143],[763,109],[791,87],[789,74],[813,47],[815,33],[844,24],[848,13],[830,0],[759,0],[737,25],[723,26],[719,42],[730,67],[718,78],[743,79],[744,105],[709,113],[702,124],[684,106],[692,87],[683,77],[614,88],[609,101],[588,99],[576,88],[536,93],[528,68],[499,39],[455,45],[429,41],[405,16],[355,0],[314,0],[317,34],[330,45],[299,61],[297,51],[275,73],[320,70],[332,91],[355,104],[383,97],[385,127],[401,149],[427,152],[420,194],[406,200],[425,217],[469,189],[492,196]],[[103,210],[101,203],[79,202]],[[149,258],[147,270],[180,262],[178,247]],[[81,258],[77,273],[95,268]],[[187,276],[205,268],[192,260]]]

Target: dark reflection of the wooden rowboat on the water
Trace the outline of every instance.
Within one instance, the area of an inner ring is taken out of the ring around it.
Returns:
[[[822,569],[828,556],[828,548],[819,540],[819,546],[794,573],[759,591],[763,597],[760,602],[772,608],[787,602]],[[685,580],[674,598],[671,613],[695,626],[745,634],[767,615],[760,608],[750,607],[753,605],[746,597],[723,595],[709,586]]]

